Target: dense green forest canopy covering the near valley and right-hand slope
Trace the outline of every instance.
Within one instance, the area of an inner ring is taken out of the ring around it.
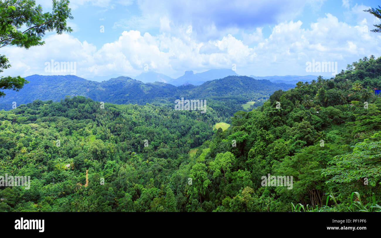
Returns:
[[[188,93],[218,97],[215,83]],[[380,88],[381,58],[364,57],[214,131],[226,117],[214,99],[207,113],[84,96],[2,110],[0,174],[31,184],[0,187],[0,210],[381,211]],[[268,174],[292,189],[263,186]]]

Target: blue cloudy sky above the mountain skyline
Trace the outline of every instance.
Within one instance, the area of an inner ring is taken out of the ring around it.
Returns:
[[[51,11],[51,0],[36,3]],[[381,0],[73,0],[67,24],[74,31],[48,32],[44,45],[29,50],[3,47],[12,67],[1,75],[91,80],[154,71],[177,78],[186,70],[224,68],[334,77],[364,56],[381,56],[381,33],[370,31],[380,20],[363,11],[378,5]],[[72,70],[51,72],[52,61],[71,62]],[[307,69],[311,62],[337,68]]]

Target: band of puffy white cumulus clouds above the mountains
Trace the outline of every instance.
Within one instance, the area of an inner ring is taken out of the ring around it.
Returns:
[[[358,8],[362,7],[354,6],[350,11],[359,13]],[[176,25],[169,16],[162,16],[157,22],[159,34],[125,30],[101,48],[69,34],[49,35],[44,46],[29,50],[4,47],[12,67],[3,75],[46,75],[49,73],[44,72],[44,63],[51,59],[77,62],[77,75],[84,78],[114,73],[138,75],[146,65],[149,70],[174,78],[186,70],[231,69],[232,64],[241,75],[306,75],[306,62],[312,60],[338,62],[340,70],[363,56],[381,52],[381,38],[367,30],[372,22],[369,14],[355,25],[326,14],[304,27],[301,21],[279,22],[268,37],[264,37],[263,28],[256,27],[242,34],[241,39],[224,33],[204,41],[194,25]]]

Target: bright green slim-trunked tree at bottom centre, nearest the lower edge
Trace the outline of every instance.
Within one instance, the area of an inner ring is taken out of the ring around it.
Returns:
[[[203,163],[197,163],[192,166],[189,173],[189,177],[192,178],[191,193],[200,195],[200,204],[202,207],[201,196],[205,195],[205,190],[210,184],[208,179],[208,173],[206,171],[207,166]]]

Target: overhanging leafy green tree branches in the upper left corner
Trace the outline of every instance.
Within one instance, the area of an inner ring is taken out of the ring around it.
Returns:
[[[29,49],[31,46],[43,45],[42,37],[46,31],[56,30],[57,34],[62,32],[72,32],[66,26],[66,19],[73,19],[69,0],[53,0],[52,13],[42,13],[41,5],[35,6],[32,0],[5,0],[0,2],[0,48],[7,45],[14,45],[20,48]],[[21,31],[23,26],[28,29]],[[8,58],[0,55],[0,73],[4,69],[11,67]],[[29,83],[24,78],[1,77],[0,90],[11,89],[19,91],[25,83]],[[0,97],[5,93],[0,91]]]

